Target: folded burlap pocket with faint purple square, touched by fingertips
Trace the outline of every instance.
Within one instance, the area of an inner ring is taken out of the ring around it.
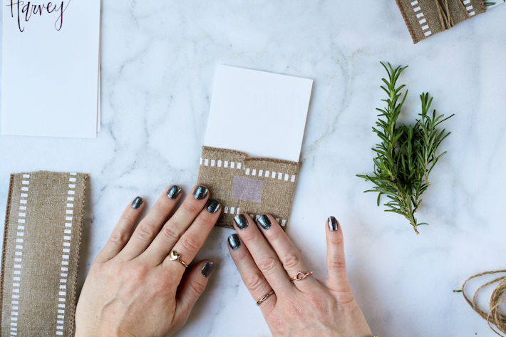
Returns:
[[[232,228],[235,215],[271,214],[286,231],[298,162],[250,158],[244,152],[202,147],[198,184],[222,204],[217,226]]]

